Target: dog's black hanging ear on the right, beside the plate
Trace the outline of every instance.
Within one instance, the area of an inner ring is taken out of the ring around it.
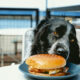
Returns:
[[[79,58],[79,46],[78,46],[78,41],[76,38],[76,31],[75,27],[71,24],[71,32],[69,34],[69,48],[70,48],[70,56],[69,56],[69,61],[73,62],[75,64],[80,63],[80,58]]]

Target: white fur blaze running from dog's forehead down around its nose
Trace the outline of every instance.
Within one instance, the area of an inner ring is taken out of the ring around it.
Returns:
[[[67,23],[67,32],[64,34],[64,36],[63,36],[62,38],[58,39],[58,40],[51,46],[51,48],[50,48],[49,51],[48,51],[49,54],[55,53],[54,50],[55,50],[56,45],[57,45],[58,43],[63,44],[65,50],[68,50],[68,51],[69,51],[69,34],[70,34],[70,31],[71,31],[71,26],[70,26],[69,23]],[[70,53],[70,51],[69,51],[68,53]],[[69,54],[68,54],[68,57],[69,57]]]

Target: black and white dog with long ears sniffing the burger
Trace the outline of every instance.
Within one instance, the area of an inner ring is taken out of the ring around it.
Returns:
[[[63,19],[42,20],[34,30],[31,55],[59,54],[69,62],[80,63],[74,26]]]

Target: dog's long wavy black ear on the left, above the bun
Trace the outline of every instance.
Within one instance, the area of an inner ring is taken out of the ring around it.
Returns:
[[[47,53],[47,30],[48,30],[47,21],[42,20],[40,24],[34,30],[34,41],[32,44],[31,55],[39,53]],[[45,41],[45,42],[44,42]],[[45,47],[44,47],[45,46]]]

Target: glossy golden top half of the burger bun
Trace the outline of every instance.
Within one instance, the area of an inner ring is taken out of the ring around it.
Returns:
[[[30,56],[25,63],[37,69],[56,69],[64,67],[66,60],[56,54],[37,54]]]

